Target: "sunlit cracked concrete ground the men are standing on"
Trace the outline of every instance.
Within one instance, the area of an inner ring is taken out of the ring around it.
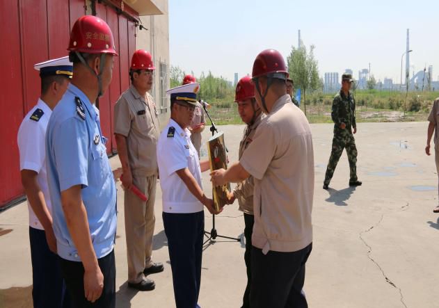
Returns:
[[[307,264],[305,293],[310,307],[439,307],[438,176],[433,156],[424,154],[424,123],[359,124],[358,177],[363,186],[349,188],[344,153],[330,189],[323,185],[330,154],[332,125],[313,124],[316,186],[313,251]],[[237,159],[242,129],[221,127]],[[205,131],[209,136],[209,131]],[[111,159],[113,167],[118,158]],[[205,191],[211,192],[204,175]],[[166,236],[157,194],[154,261],[165,264],[153,275],[157,288],[127,289],[123,192],[118,191],[117,307],[174,307]],[[219,234],[240,236],[244,219],[237,205],[216,217]],[[26,202],[0,213],[0,307],[29,307],[31,263]],[[211,216],[206,214],[206,229]],[[239,307],[246,284],[243,243],[218,239],[205,248],[202,307]],[[13,289],[11,289],[13,288]]]

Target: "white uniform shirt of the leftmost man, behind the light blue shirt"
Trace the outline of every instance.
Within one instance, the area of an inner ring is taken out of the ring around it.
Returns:
[[[38,113],[35,120],[31,117],[37,111],[42,110],[43,114]],[[49,196],[49,186],[47,185],[47,171],[46,171],[46,129],[51,115],[51,108],[45,102],[38,99],[38,103],[26,114],[22,124],[18,130],[18,148],[19,148],[19,166],[20,170],[33,170],[38,173],[37,181],[40,185],[41,191],[45,196],[47,209],[51,213],[51,202]],[[39,120],[36,119],[39,117]],[[35,229],[44,230],[40,220],[38,220],[35,213],[28,202],[29,207],[29,225]]]

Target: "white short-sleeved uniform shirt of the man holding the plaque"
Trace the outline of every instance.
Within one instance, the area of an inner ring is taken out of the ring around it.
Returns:
[[[202,188],[200,161],[197,151],[191,143],[189,129],[183,130],[177,122],[169,120],[157,143],[157,163],[159,165],[163,212],[197,213],[202,211],[202,203],[189,191],[176,172],[188,168]]]

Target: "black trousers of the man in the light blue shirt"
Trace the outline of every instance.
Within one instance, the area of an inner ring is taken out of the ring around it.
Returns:
[[[97,259],[99,268],[104,275],[104,290],[95,302],[89,302],[84,293],[82,262],[68,261],[59,258],[67,291],[72,301],[72,308],[115,308],[115,259],[114,250],[101,259]]]

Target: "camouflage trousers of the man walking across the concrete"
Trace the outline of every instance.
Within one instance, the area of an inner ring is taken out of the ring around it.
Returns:
[[[333,149],[330,152],[328,167],[324,184],[329,185],[330,179],[333,178],[335,167],[342,156],[343,150],[346,149],[348,154],[349,169],[351,170],[351,178],[349,181],[357,181],[357,147],[352,133],[334,133]]]

